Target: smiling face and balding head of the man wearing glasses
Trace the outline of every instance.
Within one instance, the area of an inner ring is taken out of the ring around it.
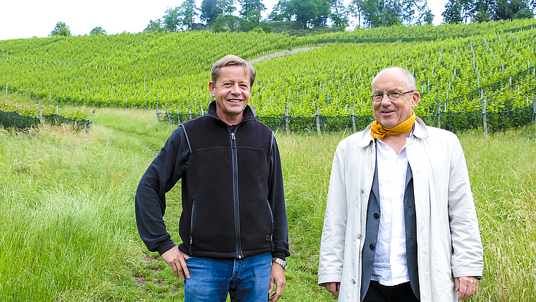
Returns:
[[[403,78],[401,71],[387,69],[380,72],[374,79],[372,93],[377,92],[406,92],[413,90]],[[401,95],[396,100],[391,100],[384,95],[382,102],[374,103],[374,117],[385,128],[394,128],[403,121],[406,121],[413,113],[413,108],[419,103],[419,92],[410,92]]]

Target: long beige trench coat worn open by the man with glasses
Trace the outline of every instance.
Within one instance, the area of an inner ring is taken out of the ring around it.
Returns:
[[[376,152],[370,125],[339,143],[331,168],[318,283],[360,301],[361,251]],[[460,142],[417,118],[406,142],[413,171],[420,301],[458,301],[454,277],[482,276],[482,243]]]

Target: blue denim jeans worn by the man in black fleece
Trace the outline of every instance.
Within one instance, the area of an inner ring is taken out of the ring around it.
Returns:
[[[185,302],[267,302],[272,254],[242,259],[186,259],[190,279],[184,282]]]

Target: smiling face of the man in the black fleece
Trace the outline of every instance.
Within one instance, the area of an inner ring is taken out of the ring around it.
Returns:
[[[240,123],[251,94],[247,69],[240,65],[222,67],[216,82],[209,82],[209,89],[210,96],[216,99],[219,118],[229,125]]]

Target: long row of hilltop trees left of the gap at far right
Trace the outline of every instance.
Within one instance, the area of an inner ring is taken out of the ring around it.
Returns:
[[[240,4],[238,17],[233,16],[237,1]],[[194,0],[185,0],[181,6],[168,8],[162,18],[151,20],[145,31],[193,29],[196,16],[205,24],[212,25],[215,31],[255,27],[267,31],[269,23],[281,21],[297,21],[303,29],[316,26],[345,29],[351,18],[358,20],[358,27],[377,28],[397,24],[430,24],[434,18],[427,0],[352,0],[347,6],[343,0],[279,0],[263,20],[264,11],[266,6],[262,0],[203,0],[200,8],[195,6]]]

